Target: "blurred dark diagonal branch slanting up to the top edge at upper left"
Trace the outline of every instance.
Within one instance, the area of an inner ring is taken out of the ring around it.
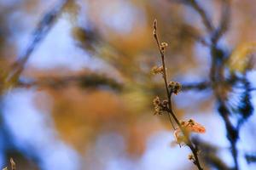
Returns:
[[[10,82],[12,79],[17,79],[20,76],[32,52],[38,47],[40,42],[44,40],[44,37],[46,37],[52,26],[54,26],[55,20],[61,14],[61,11],[68,1],[70,0],[61,0],[55,5],[54,8],[51,8],[49,12],[44,14],[43,18],[39,21],[38,26],[32,33],[32,40],[30,44],[27,46],[25,52],[21,54],[15,61],[12,71],[9,72],[9,75],[5,81]]]

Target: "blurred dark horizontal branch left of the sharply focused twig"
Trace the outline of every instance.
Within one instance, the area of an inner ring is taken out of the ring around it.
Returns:
[[[41,77],[38,80],[20,81],[18,87],[21,88],[67,88],[67,86],[77,85],[80,88],[110,88],[116,91],[122,90],[122,84],[112,78],[98,74],[86,74],[67,77]]]

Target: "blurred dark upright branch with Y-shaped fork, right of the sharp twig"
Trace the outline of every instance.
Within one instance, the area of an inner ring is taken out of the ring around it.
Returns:
[[[231,154],[235,162],[234,169],[238,169],[238,150],[236,148],[236,142],[239,139],[239,129],[230,122],[230,110],[226,104],[226,93],[224,88],[227,84],[227,81],[224,78],[224,63],[226,59],[229,58],[230,54],[224,48],[218,47],[219,39],[224,35],[228,30],[230,25],[230,1],[223,0],[221,20],[219,21],[218,27],[215,29],[212,26],[212,22],[208,17],[207,12],[201,8],[199,3],[196,0],[183,0],[184,3],[189,4],[195,11],[200,14],[201,20],[207,28],[207,31],[211,34],[211,45],[209,46],[211,51],[211,69],[209,73],[210,84],[213,90],[213,93],[217,99],[218,112],[220,116],[224,119],[225,127],[227,130],[227,138],[230,141]]]

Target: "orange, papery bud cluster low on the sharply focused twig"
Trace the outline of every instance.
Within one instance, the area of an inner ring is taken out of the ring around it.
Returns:
[[[177,144],[186,144],[186,138],[184,138],[183,133],[185,133],[185,135],[189,135],[189,133],[206,133],[206,128],[198,122],[195,122],[193,119],[189,119],[189,121],[181,121],[180,125],[183,128],[183,131],[178,127],[173,133]]]

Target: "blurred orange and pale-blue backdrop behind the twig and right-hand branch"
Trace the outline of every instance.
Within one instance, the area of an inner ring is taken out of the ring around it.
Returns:
[[[213,26],[228,10],[223,0],[196,2]],[[230,54],[227,70],[250,83],[252,107],[256,72],[244,63],[256,45],[255,9],[256,1],[229,1],[229,26],[218,40]],[[186,0],[0,0],[0,168],[13,157],[20,170],[195,169],[189,148],[172,144],[168,117],[154,116],[152,100],[165,96],[162,78],[151,74],[161,65],[154,19],[160,41],[169,44],[169,80],[184,86],[173,97],[177,117],[206,127],[195,137],[234,166],[214,93],[197,86],[209,81],[211,35],[195,6]],[[230,105],[243,93],[228,94]],[[240,169],[256,168],[251,112],[236,143]]]

